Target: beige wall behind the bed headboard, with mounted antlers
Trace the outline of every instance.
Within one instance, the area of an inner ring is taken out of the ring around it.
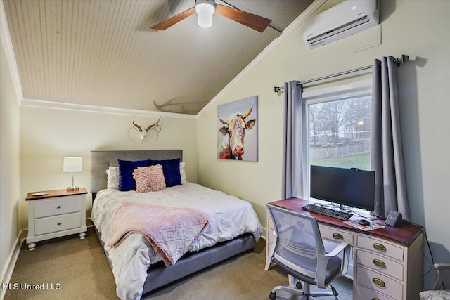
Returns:
[[[159,115],[139,116],[135,122],[148,126]],[[27,193],[67,188],[70,174],[63,173],[63,158],[83,157],[83,171],[75,174],[75,185],[89,191],[91,150],[181,149],[186,162],[186,178],[197,182],[195,120],[162,117],[160,133],[148,131],[141,143],[129,124],[133,115],[110,112],[86,112],[48,107],[20,107],[20,228],[27,224]],[[91,215],[91,197],[86,200]]]

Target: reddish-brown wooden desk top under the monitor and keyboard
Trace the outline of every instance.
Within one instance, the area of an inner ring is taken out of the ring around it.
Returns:
[[[423,227],[413,223],[404,223],[399,227],[391,227],[385,225],[385,219],[371,220],[371,223],[378,223],[385,226],[385,228],[375,229],[375,230],[359,230],[352,226],[347,225],[344,221],[340,219],[335,219],[330,216],[323,216],[322,214],[316,214],[311,211],[303,210],[304,205],[311,203],[307,200],[300,198],[288,198],[285,200],[279,200],[271,202],[269,204],[276,205],[277,207],[283,207],[291,211],[297,211],[302,214],[307,214],[309,216],[314,216],[319,223],[328,224],[330,226],[338,226],[345,230],[350,230],[355,233],[362,233],[366,235],[372,235],[374,237],[381,237],[386,240],[391,240],[392,242],[397,242],[409,246],[415,239],[423,232]],[[352,216],[349,221],[364,219],[360,216]]]

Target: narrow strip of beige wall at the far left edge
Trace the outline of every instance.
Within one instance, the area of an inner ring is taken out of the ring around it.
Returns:
[[[3,32],[2,32],[3,34]],[[3,38],[3,37],[2,37]],[[19,101],[6,58],[4,39],[0,42],[0,280],[4,275],[18,237],[20,202]],[[0,293],[2,294],[2,293]],[[1,296],[0,296],[1,297]]]

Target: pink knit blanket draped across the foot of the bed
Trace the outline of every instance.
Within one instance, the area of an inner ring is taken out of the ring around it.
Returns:
[[[210,216],[191,208],[127,202],[113,216],[108,247],[117,247],[129,235],[144,235],[165,266],[176,263],[205,230]]]

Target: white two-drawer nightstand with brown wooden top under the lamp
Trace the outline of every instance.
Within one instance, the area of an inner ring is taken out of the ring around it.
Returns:
[[[36,242],[55,237],[79,233],[86,236],[85,188],[68,190],[46,190],[45,195],[28,193],[28,249],[34,250]]]

